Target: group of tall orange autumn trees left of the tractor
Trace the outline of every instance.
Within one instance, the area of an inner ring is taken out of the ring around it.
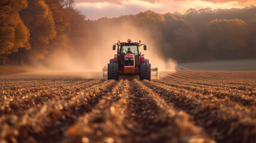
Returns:
[[[79,51],[90,35],[75,0],[10,0],[0,3],[1,64],[49,61],[50,54]],[[74,48],[76,47],[76,48]]]

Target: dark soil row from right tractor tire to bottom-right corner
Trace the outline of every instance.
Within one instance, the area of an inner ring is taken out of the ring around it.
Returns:
[[[178,110],[192,115],[217,142],[254,142],[256,140],[256,119],[246,115],[248,110],[238,110],[237,104],[229,101],[196,98],[191,92],[180,92],[171,86],[144,80],[143,84],[158,93],[166,102]],[[199,95],[200,96],[200,95]]]

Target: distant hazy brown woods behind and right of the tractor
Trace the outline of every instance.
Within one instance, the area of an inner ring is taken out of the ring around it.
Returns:
[[[254,5],[225,10],[190,8],[184,14],[145,11],[118,18],[100,18],[91,21],[90,27],[95,31],[103,23],[115,27],[121,21],[129,21],[141,29],[149,27],[152,39],[159,41],[159,35],[162,39],[158,42],[161,54],[180,63],[256,58]],[[156,34],[156,30],[160,34]]]

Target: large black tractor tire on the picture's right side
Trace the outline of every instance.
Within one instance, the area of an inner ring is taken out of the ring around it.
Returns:
[[[150,64],[140,64],[140,80],[151,80],[151,65]]]

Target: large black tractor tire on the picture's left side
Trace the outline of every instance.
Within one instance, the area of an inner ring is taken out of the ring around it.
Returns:
[[[107,65],[107,80],[119,80],[119,66],[117,63],[110,63]]]

